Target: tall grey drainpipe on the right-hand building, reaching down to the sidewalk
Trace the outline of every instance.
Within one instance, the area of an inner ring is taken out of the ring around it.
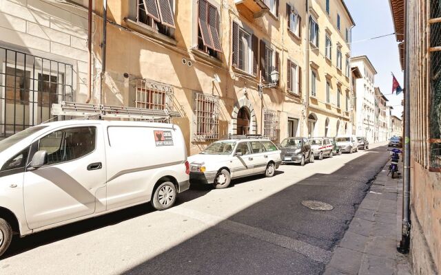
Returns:
[[[404,178],[403,178],[403,190],[402,190],[402,228],[401,228],[401,241],[398,252],[407,254],[409,252],[410,245],[410,188],[411,188],[411,96],[409,89],[409,28],[407,20],[407,11],[409,10],[409,1],[405,1],[404,5],[404,52],[406,54],[406,65],[404,69]]]

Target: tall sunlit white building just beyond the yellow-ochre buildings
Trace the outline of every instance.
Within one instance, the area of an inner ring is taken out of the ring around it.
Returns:
[[[362,78],[357,79],[357,136],[364,136],[369,143],[375,142],[375,75],[376,69],[367,56],[356,56],[352,66],[358,67]]]

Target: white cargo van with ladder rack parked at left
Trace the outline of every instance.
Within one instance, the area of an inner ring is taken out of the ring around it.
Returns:
[[[12,239],[150,201],[173,206],[189,188],[174,124],[70,120],[0,142],[0,256]]]

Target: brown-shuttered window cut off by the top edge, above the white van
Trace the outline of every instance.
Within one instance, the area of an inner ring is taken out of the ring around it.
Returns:
[[[173,0],[138,0],[136,21],[154,28],[160,34],[174,37]]]

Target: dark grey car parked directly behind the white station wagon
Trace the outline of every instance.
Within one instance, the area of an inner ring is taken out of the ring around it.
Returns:
[[[314,162],[314,153],[306,137],[288,137],[280,142],[280,157],[284,163],[297,163],[301,166],[305,162]]]

